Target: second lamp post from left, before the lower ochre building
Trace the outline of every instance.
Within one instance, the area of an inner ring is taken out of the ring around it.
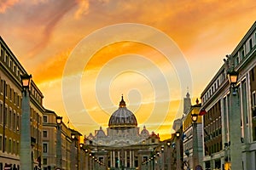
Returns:
[[[56,144],[56,166],[58,168],[62,168],[62,139],[61,139],[61,123],[62,117],[56,116],[56,123],[57,123],[57,144]]]

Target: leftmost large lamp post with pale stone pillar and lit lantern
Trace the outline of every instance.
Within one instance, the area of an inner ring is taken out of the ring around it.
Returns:
[[[29,85],[32,76],[24,74],[20,76],[22,83],[22,116],[20,126],[20,169],[32,170],[31,148],[31,112],[29,99]]]

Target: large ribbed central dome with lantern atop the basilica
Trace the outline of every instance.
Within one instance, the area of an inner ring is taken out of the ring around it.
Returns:
[[[108,122],[109,128],[131,128],[137,127],[137,119],[131,111],[126,108],[125,101],[119,103],[119,109],[114,111]]]

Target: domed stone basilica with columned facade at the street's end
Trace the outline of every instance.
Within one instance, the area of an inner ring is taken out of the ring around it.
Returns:
[[[100,127],[95,135],[84,137],[90,169],[157,169],[164,168],[160,156],[160,137],[137,127],[136,116],[126,108],[125,100],[109,118],[107,133]]]

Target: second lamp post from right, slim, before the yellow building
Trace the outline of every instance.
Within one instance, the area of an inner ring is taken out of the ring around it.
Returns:
[[[191,114],[191,120],[193,124],[193,169],[199,165],[199,156],[198,156],[198,139],[197,139],[197,121],[198,115],[197,114]]]

